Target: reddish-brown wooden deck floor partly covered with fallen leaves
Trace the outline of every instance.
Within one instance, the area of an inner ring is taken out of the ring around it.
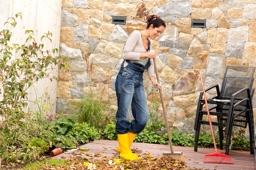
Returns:
[[[118,147],[118,141],[99,140],[93,141],[81,147],[89,148],[89,153],[101,153],[105,156],[114,156],[115,150]],[[161,144],[145,144],[134,142],[131,148],[138,148],[142,150],[142,154],[151,153],[152,156],[163,156],[163,153],[170,153],[169,145]],[[256,170],[254,155],[249,151],[235,151],[230,150],[229,156],[233,159],[233,164],[204,164],[203,159],[206,154],[214,153],[214,149],[198,148],[198,152],[194,152],[194,147],[180,147],[174,146],[174,151],[182,151],[186,158],[187,168],[201,168],[202,170]],[[218,150],[219,153],[225,153],[225,150]],[[62,153],[61,155],[52,157],[55,159],[63,159],[70,156],[70,154]]]

